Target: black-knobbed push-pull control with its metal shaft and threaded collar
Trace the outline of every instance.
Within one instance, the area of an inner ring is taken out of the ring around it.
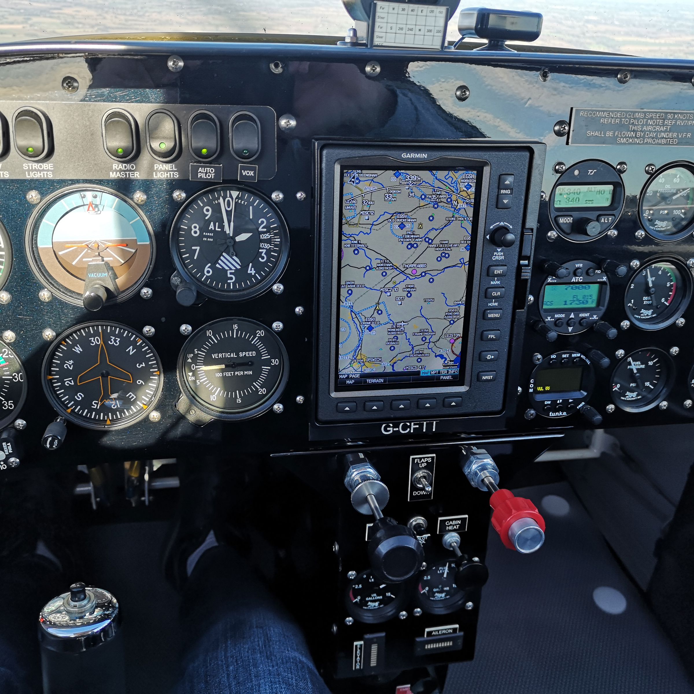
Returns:
[[[424,550],[409,527],[383,515],[388,503],[388,488],[363,453],[342,457],[347,471],[345,486],[352,494],[352,505],[364,516],[373,515],[371,539],[367,547],[375,577],[399,583],[414,575],[424,561]]]

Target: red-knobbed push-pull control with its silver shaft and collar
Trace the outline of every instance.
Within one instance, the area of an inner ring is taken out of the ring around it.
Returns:
[[[466,446],[460,466],[472,486],[491,492],[491,525],[505,547],[524,555],[539,550],[545,541],[544,518],[530,499],[499,489],[499,468],[491,455],[483,448]]]

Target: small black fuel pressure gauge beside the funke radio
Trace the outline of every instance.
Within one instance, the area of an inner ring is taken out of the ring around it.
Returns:
[[[619,362],[610,384],[615,405],[627,412],[655,407],[670,389],[670,358],[659,349],[641,349]]]

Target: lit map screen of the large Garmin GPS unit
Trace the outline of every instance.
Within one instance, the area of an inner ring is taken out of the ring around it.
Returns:
[[[341,168],[337,388],[462,378],[479,175]]]

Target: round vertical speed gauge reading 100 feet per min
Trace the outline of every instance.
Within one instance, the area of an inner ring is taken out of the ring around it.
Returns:
[[[203,325],[178,357],[178,382],[205,414],[246,419],[276,403],[289,376],[284,345],[261,323],[223,318]]]

